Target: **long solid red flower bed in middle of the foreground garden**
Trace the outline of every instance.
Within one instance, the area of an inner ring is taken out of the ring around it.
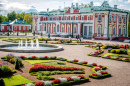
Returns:
[[[43,64],[35,64],[33,67],[29,69],[30,72],[52,71],[52,70],[69,71],[69,70],[83,70],[83,69],[76,68],[76,67],[55,67],[55,66],[43,65]]]

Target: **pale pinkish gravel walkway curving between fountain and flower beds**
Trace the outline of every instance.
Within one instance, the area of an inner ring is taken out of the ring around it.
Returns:
[[[55,38],[55,37],[54,37]],[[86,39],[85,39],[86,40]],[[90,41],[90,40],[89,40]],[[92,40],[91,40],[92,41]],[[94,40],[96,42],[102,42],[103,44],[126,44],[123,42]],[[10,44],[0,39],[0,44]],[[51,53],[15,53],[15,52],[2,52],[0,55],[4,56],[8,53],[14,55],[25,55],[25,56],[62,56],[67,59],[79,59],[80,61],[88,61],[89,63],[95,62],[100,65],[107,66],[107,71],[112,74],[112,77],[106,79],[95,80],[90,78],[90,82],[81,84],[81,86],[130,86],[130,63],[103,59],[100,57],[87,56],[88,53],[95,51],[94,49],[87,48],[85,45],[63,45],[59,44],[64,48],[60,52]]]

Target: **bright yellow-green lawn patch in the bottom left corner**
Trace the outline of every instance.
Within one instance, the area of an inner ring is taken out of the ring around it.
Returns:
[[[21,75],[15,75],[8,78],[4,78],[5,86],[16,86],[22,85],[27,83],[33,83],[33,81],[28,80]]]

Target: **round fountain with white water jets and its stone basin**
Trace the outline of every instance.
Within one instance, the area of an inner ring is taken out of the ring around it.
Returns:
[[[36,39],[36,43],[33,40],[31,40],[31,43],[28,43],[26,39],[25,43],[23,43],[23,40],[19,40],[18,44],[0,45],[0,50],[22,53],[44,53],[63,50],[63,48],[57,45],[39,44],[38,39]]]

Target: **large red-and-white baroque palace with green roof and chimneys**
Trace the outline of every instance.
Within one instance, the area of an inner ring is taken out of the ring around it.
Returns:
[[[107,1],[103,6],[76,7],[56,12],[33,14],[33,31],[43,34],[58,34],[61,37],[82,35],[84,38],[108,39],[128,38],[128,10],[110,7]]]

